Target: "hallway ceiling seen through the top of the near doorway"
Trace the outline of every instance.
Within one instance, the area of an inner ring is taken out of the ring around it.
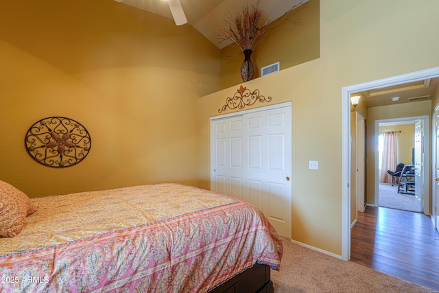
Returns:
[[[387,106],[431,99],[439,86],[439,78],[429,78],[381,89],[371,89],[352,95],[361,94],[361,103],[366,107]]]

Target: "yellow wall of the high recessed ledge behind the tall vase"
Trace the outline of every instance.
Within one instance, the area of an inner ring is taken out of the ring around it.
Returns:
[[[319,58],[319,24],[318,0],[311,0],[274,21],[272,28],[252,53],[254,78],[259,78],[262,67],[276,62],[280,62],[280,69],[285,69]],[[230,45],[221,50],[221,56],[221,88],[225,89],[242,82],[240,68],[244,54],[236,45]]]

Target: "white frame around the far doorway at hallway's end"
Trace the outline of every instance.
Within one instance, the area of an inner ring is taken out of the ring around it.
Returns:
[[[429,189],[429,178],[430,178],[430,168],[429,168],[429,162],[430,162],[430,117],[427,115],[424,116],[416,116],[416,117],[401,117],[401,118],[392,118],[392,119],[381,119],[381,120],[375,120],[375,139],[377,139],[378,132],[379,132],[379,124],[381,123],[390,123],[390,122],[403,122],[406,121],[407,124],[414,123],[415,121],[423,121],[423,127],[424,127],[424,136],[423,136],[423,146],[424,146],[424,157],[423,157],[423,185],[425,187],[425,190],[423,190],[421,187],[415,187],[415,188],[421,188],[421,192],[424,192],[424,198],[421,203],[421,211],[423,211],[425,214],[429,215],[430,211],[430,189]],[[374,143],[375,145],[375,206],[377,207],[379,204],[379,157],[378,154],[378,143]]]

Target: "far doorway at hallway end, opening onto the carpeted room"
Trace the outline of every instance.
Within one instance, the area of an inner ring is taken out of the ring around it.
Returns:
[[[394,132],[396,136],[397,161],[390,171],[394,171],[398,163],[403,163],[403,171],[408,172],[402,179],[396,179],[394,185],[382,182],[383,172],[391,168],[381,163],[383,139],[380,138],[388,132]],[[375,157],[375,206],[414,212],[423,212],[428,206],[429,171],[425,170],[425,166],[429,165],[429,161],[425,160],[429,160],[430,144],[429,135],[425,133],[429,133],[429,116],[375,121],[375,141],[379,142],[376,145],[378,156]]]

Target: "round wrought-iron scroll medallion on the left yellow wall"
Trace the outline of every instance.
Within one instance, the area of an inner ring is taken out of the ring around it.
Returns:
[[[47,117],[27,130],[25,145],[38,163],[69,167],[84,160],[91,148],[91,138],[84,126],[73,119]]]

